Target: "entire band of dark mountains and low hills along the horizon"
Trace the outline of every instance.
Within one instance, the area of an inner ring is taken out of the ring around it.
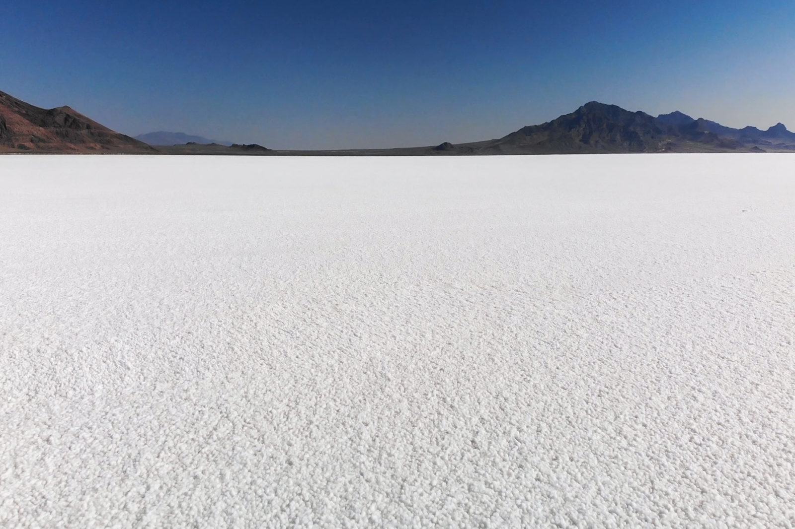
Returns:
[[[281,151],[256,144],[221,145],[183,133],[150,133],[136,139],[114,132],[69,106],[45,110],[0,92],[0,153],[444,156],[765,151],[795,152],[795,133],[781,123],[766,130],[751,126],[732,129],[679,111],[655,118],[595,101],[551,122],[528,125],[494,140],[463,144],[445,141],[404,149]]]

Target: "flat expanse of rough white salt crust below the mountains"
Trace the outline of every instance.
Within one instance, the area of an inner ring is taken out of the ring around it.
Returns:
[[[0,189],[0,527],[795,524],[795,156]]]

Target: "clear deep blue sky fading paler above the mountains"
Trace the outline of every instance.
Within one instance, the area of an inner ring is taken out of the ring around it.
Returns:
[[[795,129],[795,2],[4,0],[0,91],[277,149],[502,137],[591,100]]]

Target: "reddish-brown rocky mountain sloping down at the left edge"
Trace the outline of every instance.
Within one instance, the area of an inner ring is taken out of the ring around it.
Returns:
[[[0,92],[0,152],[156,153],[69,106],[43,109]]]

